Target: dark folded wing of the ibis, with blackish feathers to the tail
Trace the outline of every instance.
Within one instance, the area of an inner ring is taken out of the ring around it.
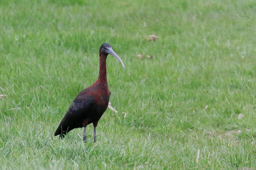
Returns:
[[[94,108],[93,96],[79,94],[70,105],[54,135],[60,135],[76,127],[82,127],[82,121],[94,111]]]

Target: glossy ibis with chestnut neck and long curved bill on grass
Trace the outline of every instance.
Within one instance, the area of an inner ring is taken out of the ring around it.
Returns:
[[[109,43],[103,43],[100,46],[100,70],[96,82],[80,92],[71,103],[68,111],[64,115],[54,136],[60,135],[63,139],[66,133],[75,128],[84,127],[83,141],[86,142],[86,126],[93,123],[94,143],[96,142],[96,127],[98,121],[108,107],[110,90],[107,82],[106,59],[108,54],[113,55],[120,61],[125,69],[124,63],[120,57],[113,51]]]

